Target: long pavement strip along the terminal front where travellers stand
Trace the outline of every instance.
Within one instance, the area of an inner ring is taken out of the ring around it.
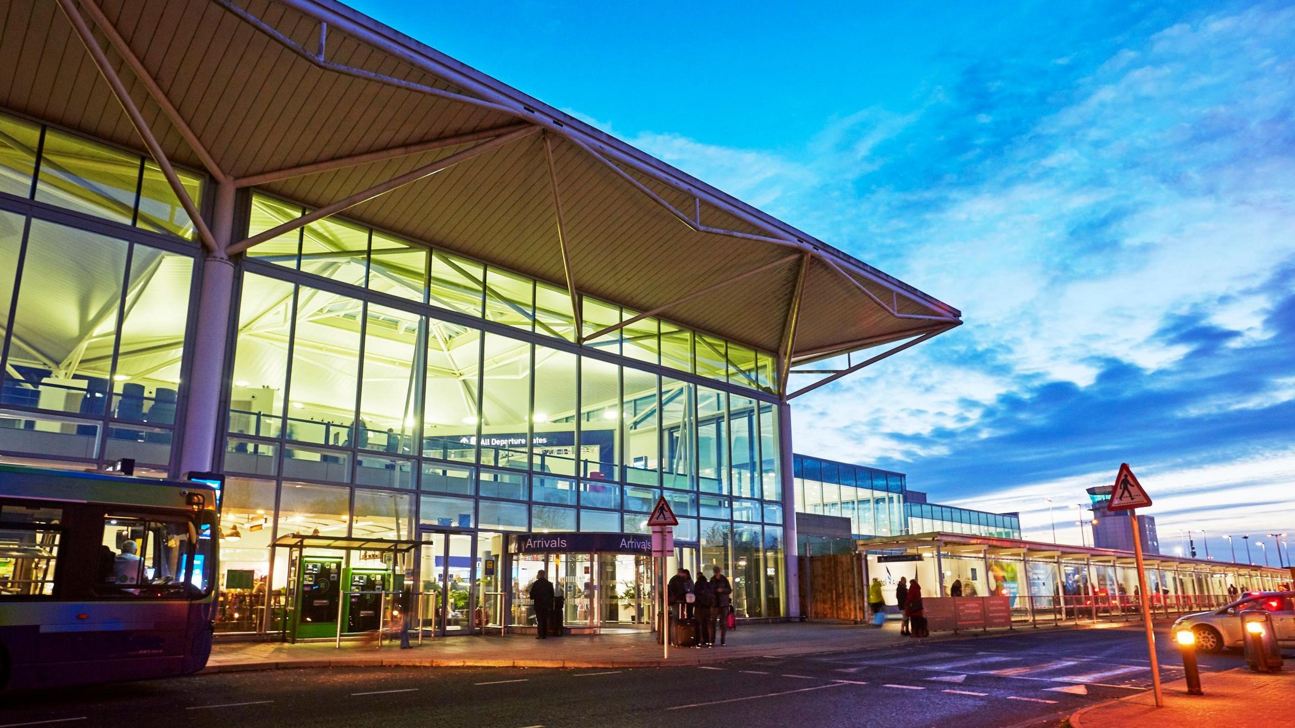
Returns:
[[[1098,626],[1101,627],[1101,624]],[[1118,627],[1118,624],[1107,624]],[[882,649],[940,640],[992,636],[1013,632],[1053,632],[1083,627],[1030,626],[982,632],[939,632],[923,640],[899,633],[899,623],[877,628],[865,624],[791,622],[747,624],[729,632],[725,646],[710,649],[671,648],[662,658],[655,635],[567,635],[536,640],[534,635],[483,635],[425,639],[421,646],[399,649],[385,640],[335,643],[225,643],[211,650],[205,674],[297,667],[659,667],[707,665],[745,657],[820,654],[851,649]],[[1089,626],[1088,628],[1092,628]]]

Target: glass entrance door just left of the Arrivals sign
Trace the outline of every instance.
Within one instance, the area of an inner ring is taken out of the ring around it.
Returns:
[[[423,531],[418,558],[422,624],[438,635],[473,631],[474,562],[471,534]]]

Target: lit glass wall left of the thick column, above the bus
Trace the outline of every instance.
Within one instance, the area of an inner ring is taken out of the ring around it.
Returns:
[[[136,153],[0,114],[0,452],[167,474],[197,253],[171,188]]]

